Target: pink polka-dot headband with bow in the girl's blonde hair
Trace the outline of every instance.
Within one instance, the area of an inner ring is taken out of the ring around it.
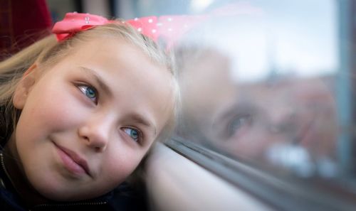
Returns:
[[[167,47],[171,46],[190,28],[197,23],[204,21],[206,16],[148,16],[135,18],[122,23],[128,23],[145,36],[157,41],[163,38],[167,41]],[[52,29],[57,40],[66,40],[79,31],[85,31],[95,26],[102,26],[107,23],[117,23],[102,16],[89,13],[66,13],[63,21],[58,21]]]

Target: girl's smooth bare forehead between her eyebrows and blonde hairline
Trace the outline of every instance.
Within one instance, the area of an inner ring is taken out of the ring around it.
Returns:
[[[155,120],[169,118],[173,107],[172,75],[167,68],[120,38],[98,38],[78,47],[61,62],[70,69],[70,75],[85,74],[83,67],[93,70],[90,72],[108,86],[112,102],[120,104],[120,109],[125,106],[140,110]],[[158,130],[162,128],[162,122],[157,124]]]

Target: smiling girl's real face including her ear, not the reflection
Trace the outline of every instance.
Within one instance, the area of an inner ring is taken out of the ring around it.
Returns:
[[[103,195],[135,170],[172,111],[171,75],[124,40],[80,44],[14,95],[15,139],[31,185],[53,200]]]

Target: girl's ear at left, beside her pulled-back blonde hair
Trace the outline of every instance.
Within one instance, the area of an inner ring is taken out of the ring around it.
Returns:
[[[36,82],[36,69],[37,65],[34,63],[28,68],[28,70],[26,70],[26,72],[23,73],[23,76],[15,89],[14,98],[12,100],[12,103],[16,109],[23,109],[28,93],[31,91]]]

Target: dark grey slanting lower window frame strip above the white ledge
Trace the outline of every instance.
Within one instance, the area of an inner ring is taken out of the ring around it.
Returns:
[[[355,210],[355,195],[340,189],[334,192],[330,187],[321,190],[314,185],[318,180],[281,177],[261,171],[251,163],[228,158],[179,137],[170,139],[165,145],[276,210]]]

